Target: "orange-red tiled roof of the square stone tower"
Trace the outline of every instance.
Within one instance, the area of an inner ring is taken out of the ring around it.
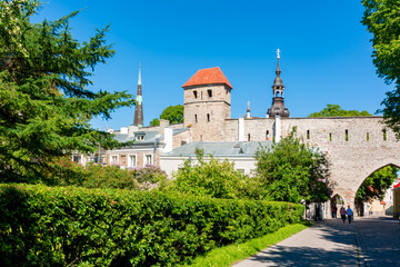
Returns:
[[[214,83],[223,83],[232,89],[232,86],[219,67],[198,70],[198,72],[196,72],[196,75],[193,75],[182,87],[184,88]]]

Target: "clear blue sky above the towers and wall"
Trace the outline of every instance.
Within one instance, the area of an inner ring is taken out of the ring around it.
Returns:
[[[168,106],[183,103],[181,86],[197,70],[220,67],[232,90],[232,118],[264,117],[272,101],[276,51],[291,117],[306,117],[327,103],[374,113],[391,90],[376,75],[371,34],[360,23],[360,1],[103,1],[48,0],[34,21],[74,10],[72,32],[88,40],[111,23],[107,40],[116,56],[94,71],[93,90],[136,95],[142,63],[144,123]],[[134,107],[94,128],[133,122]]]

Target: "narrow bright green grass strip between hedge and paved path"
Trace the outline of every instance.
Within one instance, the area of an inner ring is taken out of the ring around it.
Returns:
[[[289,225],[279,230],[268,234],[263,237],[251,239],[242,244],[233,244],[226,247],[212,249],[204,256],[197,257],[190,267],[226,267],[232,266],[234,263],[246,259],[262,249],[274,245],[288,237],[311,226],[310,222]]]

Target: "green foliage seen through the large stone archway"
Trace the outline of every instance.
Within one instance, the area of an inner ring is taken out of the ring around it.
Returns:
[[[386,191],[397,178],[398,171],[399,168],[387,166],[370,175],[358,189],[356,201],[360,204],[373,199],[382,200]]]

